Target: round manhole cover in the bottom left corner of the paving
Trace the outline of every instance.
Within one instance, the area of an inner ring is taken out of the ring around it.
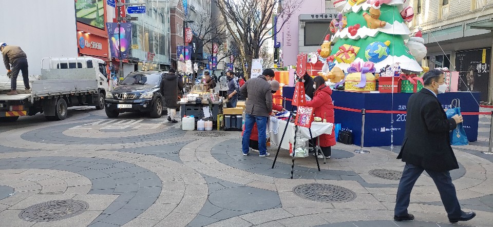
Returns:
[[[54,200],[32,205],[24,209],[19,217],[26,221],[58,221],[82,214],[89,204],[80,200]]]

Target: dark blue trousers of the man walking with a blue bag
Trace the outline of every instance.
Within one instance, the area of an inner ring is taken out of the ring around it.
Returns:
[[[397,189],[397,198],[395,200],[394,215],[404,216],[407,215],[407,207],[409,207],[409,200],[411,197],[411,190],[418,177],[423,173],[424,169],[419,166],[415,166],[411,163],[406,163],[404,171],[402,172],[401,181],[399,182],[399,189]],[[461,205],[457,199],[456,187],[452,183],[449,171],[431,171],[426,170],[437,186],[437,189],[442,198],[445,211],[447,211],[448,218],[457,218],[462,215]]]

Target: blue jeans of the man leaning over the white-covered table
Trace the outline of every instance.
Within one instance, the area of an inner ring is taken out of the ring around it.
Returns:
[[[243,133],[243,139],[241,140],[243,154],[248,154],[250,147],[250,135],[252,135],[252,129],[253,129],[253,125],[255,125],[255,122],[257,122],[257,129],[258,129],[258,151],[260,155],[265,155],[267,153],[267,147],[265,142],[267,119],[268,119],[267,117],[245,114],[245,132]]]

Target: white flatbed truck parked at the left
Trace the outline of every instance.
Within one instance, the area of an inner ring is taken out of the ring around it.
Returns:
[[[22,80],[22,75],[18,78]],[[23,87],[21,80],[17,87]],[[63,120],[72,106],[101,110],[109,92],[106,63],[94,57],[43,58],[41,76],[30,83],[31,90],[19,89],[17,95],[0,91],[0,121],[12,122],[36,113],[49,120]]]

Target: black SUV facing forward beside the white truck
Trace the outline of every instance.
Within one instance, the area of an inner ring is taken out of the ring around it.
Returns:
[[[163,71],[137,71],[128,74],[119,86],[106,94],[106,115],[118,117],[123,112],[149,112],[150,117],[163,114]]]

